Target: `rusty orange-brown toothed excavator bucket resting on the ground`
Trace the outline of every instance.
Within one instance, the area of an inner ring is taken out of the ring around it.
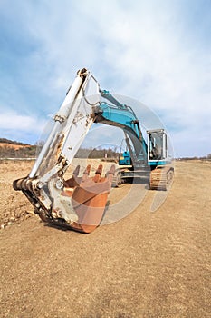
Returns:
[[[110,171],[105,177],[101,177],[101,164],[94,177],[89,177],[90,171],[91,166],[88,165],[83,176],[79,178],[78,166],[72,178],[65,181],[65,187],[62,191],[62,195],[71,197],[72,207],[78,216],[78,221],[72,222],[71,227],[83,233],[91,233],[101,223],[115,166],[110,167]]]

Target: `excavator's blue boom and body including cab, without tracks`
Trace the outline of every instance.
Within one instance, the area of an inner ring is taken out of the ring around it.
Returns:
[[[95,122],[120,127],[126,135],[128,149],[120,155],[119,164],[142,164],[152,168],[168,164],[167,136],[164,130],[157,129],[147,132],[149,136],[147,144],[140,129],[139,119],[132,108],[129,105],[121,104],[109,91],[101,91],[101,96],[106,101],[102,101],[96,106]],[[159,154],[153,152],[156,147]]]

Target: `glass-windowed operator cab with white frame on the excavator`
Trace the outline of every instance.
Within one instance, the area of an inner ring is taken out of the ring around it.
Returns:
[[[164,129],[148,130],[148,163],[149,165],[167,164],[168,138]]]

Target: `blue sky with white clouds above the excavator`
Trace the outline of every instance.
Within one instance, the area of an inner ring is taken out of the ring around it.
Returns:
[[[35,144],[78,69],[211,153],[211,1],[0,0],[0,137]],[[141,120],[141,119],[140,119]]]

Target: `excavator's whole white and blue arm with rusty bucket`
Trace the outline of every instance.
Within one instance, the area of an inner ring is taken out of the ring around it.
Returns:
[[[34,213],[44,222],[90,233],[101,223],[115,167],[111,165],[105,177],[101,164],[94,176],[90,176],[90,165],[81,176],[79,165],[71,178],[65,180],[64,174],[91,125],[120,127],[129,137],[128,145],[129,140],[133,144],[134,158],[141,158],[142,164],[148,164],[147,144],[132,108],[121,104],[108,91],[102,91],[86,69],[78,71],[53,120],[53,130],[31,173],[15,180],[14,190],[26,195],[34,205]],[[130,145],[129,151],[132,152]]]

